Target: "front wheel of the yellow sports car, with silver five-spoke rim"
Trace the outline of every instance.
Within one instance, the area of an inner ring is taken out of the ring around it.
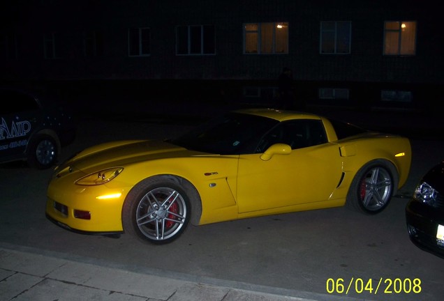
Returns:
[[[191,217],[188,189],[172,176],[147,178],[128,193],[122,208],[125,233],[165,244],[179,238]]]

